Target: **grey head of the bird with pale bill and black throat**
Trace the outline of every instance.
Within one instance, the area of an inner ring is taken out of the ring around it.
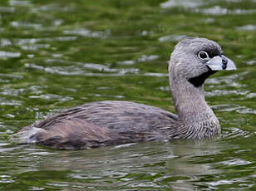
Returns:
[[[202,86],[216,71],[235,69],[234,62],[224,56],[218,43],[202,37],[185,38],[170,56],[171,77],[176,81],[190,81],[194,86]]]

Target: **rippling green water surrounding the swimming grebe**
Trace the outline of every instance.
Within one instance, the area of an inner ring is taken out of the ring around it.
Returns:
[[[2,0],[0,190],[255,190],[255,8],[254,0]],[[174,112],[167,60],[186,36],[219,42],[238,66],[206,81],[218,138],[74,151],[8,141],[96,100]]]

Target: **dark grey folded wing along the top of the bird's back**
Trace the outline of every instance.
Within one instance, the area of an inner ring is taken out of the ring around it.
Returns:
[[[116,133],[157,130],[177,123],[178,117],[166,110],[130,101],[98,101],[52,115],[35,124],[47,130],[63,120],[79,119],[113,130]]]

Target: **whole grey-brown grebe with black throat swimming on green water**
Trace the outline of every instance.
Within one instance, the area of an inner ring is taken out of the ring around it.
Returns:
[[[204,81],[217,71],[236,70],[217,42],[186,37],[168,66],[176,114],[127,100],[79,105],[23,127],[11,140],[55,149],[91,149],[150,140],[212,139],[219,120],[204,99]]]

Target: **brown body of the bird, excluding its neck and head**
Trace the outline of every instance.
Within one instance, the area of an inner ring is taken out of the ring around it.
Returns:
[[[52,115],[24,127],[20,133],[37,130],[28,140],[31,143],[59,149],[87,149],[144,140],[168,140],[165,131],[170,124],[178,126],[180,121],[176,115],[160,108],[129,101],[100,101]]]

